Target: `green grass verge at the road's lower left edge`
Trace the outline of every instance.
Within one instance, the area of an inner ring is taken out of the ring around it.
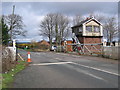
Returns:
[[[2,74],[2,89],[11,88],[11,83],[14,81],[14,76],[21,70],[23,70],[26,66],[25,61],[18,61],[15,68],[9,71],[8,73]]]

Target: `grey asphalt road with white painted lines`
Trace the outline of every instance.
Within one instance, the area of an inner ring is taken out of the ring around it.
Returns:
[[[19,53],[27,59],[27,52]],[[31,52],[31,60],[14,88],[118,88],[116,61],[55,52]]]

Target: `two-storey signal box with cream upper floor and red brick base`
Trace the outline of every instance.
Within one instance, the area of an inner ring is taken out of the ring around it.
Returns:
[[[101,50],[103,26],[94,17],[87,18],[73,26],[72,33],[83,45],[84,52],[92,53]]]

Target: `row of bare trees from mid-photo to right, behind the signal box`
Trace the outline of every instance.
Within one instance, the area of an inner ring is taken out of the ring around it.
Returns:
[[[115,16],[105,17],[100,14],[90,14],[103,24],[103,35],[107,42],[112,42],[118,34],[118,23]],[[72,19],[61,13],[49,13],[39,24],[40,35],[49,38],[50,46],[55,39],[56,45],[60,45],[62,40],[71,36],[71,26],[79,24],[86,17],[75,15]]]

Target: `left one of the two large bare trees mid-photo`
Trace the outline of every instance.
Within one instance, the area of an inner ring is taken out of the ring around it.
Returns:
[[[52,48],[52,40],[54,37],[54,14],[47,14],[40,23],[40,35],[46,36],[49,38],[50,49]]]

